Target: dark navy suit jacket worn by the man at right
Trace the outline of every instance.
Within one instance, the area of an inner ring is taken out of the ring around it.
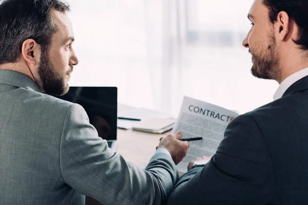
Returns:
[[[168,204],[308,204],[308,76],[282,98],[236,117],[203,169]]]

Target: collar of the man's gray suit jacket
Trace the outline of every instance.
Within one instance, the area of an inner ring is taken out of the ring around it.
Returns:
[[[11,70],[0,70],[0,84],[41,92],[40,88],[31,78]]]

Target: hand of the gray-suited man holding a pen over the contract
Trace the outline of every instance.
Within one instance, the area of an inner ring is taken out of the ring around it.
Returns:
[[[181,141],[181,137],[182,132],[178,132],[175,135],[168,135],[161,138],[158,147],[156,147],[156,149],[165,148],[168,150],[176,165],[186,156],[189,147],[189,142]]]

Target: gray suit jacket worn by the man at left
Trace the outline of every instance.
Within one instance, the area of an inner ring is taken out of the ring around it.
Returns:
[[[85,110],[0,70],[0,204],[165,203],[177,180],[167,154],[145,170],[112,153]],[[154,149],[154,147],[153,147]]]

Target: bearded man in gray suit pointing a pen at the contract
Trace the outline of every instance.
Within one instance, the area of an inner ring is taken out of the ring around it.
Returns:
[[[78,64],[68,10],[57,0],[0,4],[0,204],[84,204],[84,195],[163,204],[189,145],[181,133],[162,139],[143,170],[111,152],[80,105],[47,95],[65,94]]]

